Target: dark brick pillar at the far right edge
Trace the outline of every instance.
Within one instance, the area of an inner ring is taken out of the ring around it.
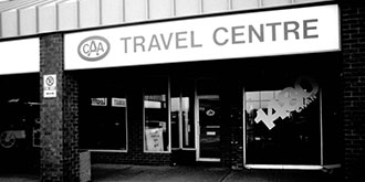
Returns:
[[[365,6],[341,1],[345,178],[362,179],[365,167]]]

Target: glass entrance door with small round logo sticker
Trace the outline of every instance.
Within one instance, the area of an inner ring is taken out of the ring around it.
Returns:
[[[220,161],[220,100],[218,95],[198,97],[198,161]]]

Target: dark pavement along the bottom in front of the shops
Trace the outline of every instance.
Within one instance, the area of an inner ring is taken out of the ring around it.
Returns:
[[[342,181],[333,172],[298,170],[231,170],[206,165],[92,164],[92,182],[316,182]],[[35,182],[32,173],[0,174],[0,182]]]

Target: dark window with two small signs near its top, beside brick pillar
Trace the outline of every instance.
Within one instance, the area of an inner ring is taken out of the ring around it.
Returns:
[[[101,76],[90,79],[80,79],[80,148],[127,151],[126,84]]]

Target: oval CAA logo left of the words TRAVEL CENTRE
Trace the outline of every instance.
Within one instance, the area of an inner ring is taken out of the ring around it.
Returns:
[[[90,36],[79,44],[79,55],[90,62],[104,58],[111,50],[109,42],[103,36]]]

